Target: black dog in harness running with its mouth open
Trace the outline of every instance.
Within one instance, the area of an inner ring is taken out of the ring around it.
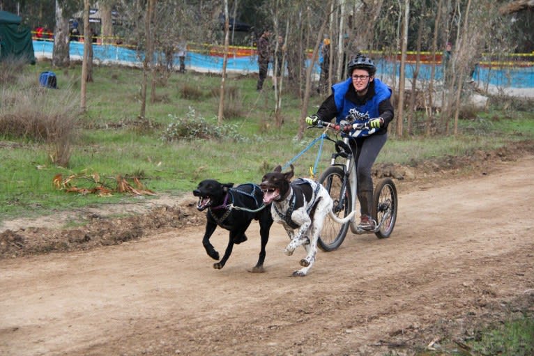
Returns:
[[[261,250],[259,251],[258,263],[251,272],[264,272],[265,247],[269,240],[270,226],[273,225],[273,217],[270,213],[270,205],[264,206],[263,193],[258,185],[247,183],[233,188],[234,183],[222,184],[217,180],[206,179],[199,183],[193,195],[199,197],[198,210],[208,208],[206,213],[206,233],[202,239],[202,245],[208,256],[218,260],[219,253],[210,243],[210,238],[217,226],[230,231],[230,238],[224,256],[213,268],[220,270],[230,257],[234,244],[240,244],[247,240],[248,226],[252,219],[259,222],[261,235]],[[262,208],[263,207],[263,208]]]

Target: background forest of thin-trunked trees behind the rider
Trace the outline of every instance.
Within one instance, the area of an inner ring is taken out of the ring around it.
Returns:
[[[280,50],[274,39],[283,38],[282,61],[291,68],[287,79],[282,77],[283,87],[300,97],[302,116],[308,111],[310,92],[316,87],[307,59],[312,58],[314,63],[322,53],[322,58],[328,60],[329,70],[322,86],[328,91],[331,84],[345,77],[346,59],[363,51],[375,60],[387,58],[398,68],[394,70],[398,75],[390,82],[398,94],[397,117],[402,118],[396,121],[396,134],[413,132],[413,111],[420,107],[427,109],[427,134],[456,133],[461,107],[471,105],[474,91],[465,81],[471,77],[473,68],[480,63],[512,66],[531,63],[529,54],[534,49],[533,8],[525,0],[0,1],[0,9],[19,14],[28,26],[44,26],[53,33],[52,65],[56,68],[70,63],[69,31],[75,22],[83,22],[84,6],[98,8],[100,20],[91,22],[90,29],[101,43],[127,45],[140,54],[149,54],[143,64],[143,103],[139,114],[142,117],[146,111],[148,82],[151,80],[153,102],[156,72],[161,69],[151,53],[165,53],[181,41],[187,41],[190,47],[195,44],[254,46],[259,31],[268,28],[273,33],[273,51]],[[229,31],[225,36],[227,17]],[[81,24],[79,28],[83,35]],[[326,52],[325,41],[328,41]],[[432,78],[421,86],[419,63],[441,61],[448,42],[452,45],[446,75],[449,80],[434,82],[432,68]],[[406,63],[413,67],[411,83],[404,80]],[[86,78],[91,80],[90,72]],[[411,88],[407,88],[409,85]],[[277,84],[277,88],[282,88],[282,84]],[[276,94],[283,95],[282,91]],[[282,125],[279,101],[277,98],[277,127]],[[439,118],[434,117],[436,107],[441,111]],[[221,109],[219,118],[222,120]],[[300,127],[299,137],[302,130]]]

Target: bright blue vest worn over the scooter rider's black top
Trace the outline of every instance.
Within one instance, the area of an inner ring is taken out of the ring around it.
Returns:
[[[367,100],[363,105],[358,105],[351,100],[347,100],[346,92],[349,91],[352,85],[352,78],[346,79],[344,82],[337,83],[332,86],[332,93],[334,95],[335,106],[337,107],[336,123],[345,121],[346,116],[351,114],[351,123],[365,123],[369,118],[377,118],[380,116],[379,104],[381,101],[391,97],[391,89],[389,86],[374,78],[374,95],[370,100]],[[374,134],[379,129],[371,130],[352,130],[350,135],[352,137],[365,137],[369,134]]]

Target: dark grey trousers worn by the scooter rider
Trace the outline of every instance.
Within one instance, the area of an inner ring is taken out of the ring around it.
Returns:
[[[360,201],[362,215],[372,216],[373,212],[373,178],[371,169],[380,150],[386,144],[388,134],[372,134],[371,136],[351,140],[351,148],[356,153],[356,177],[358,187],[356,194]]]

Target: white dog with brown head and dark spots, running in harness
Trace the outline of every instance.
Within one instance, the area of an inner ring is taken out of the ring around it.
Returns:
[[[354,212],[344,219],[338,218],[332,212],[334,203],[328,191],[321,184],[307,178],[291,182],[293,172],[293,165],[287,173],[282,173],[282,167],[277,166],[273,172],[266,173],[260,187],[264,192],[264,203],[272,202],[270,212],[273,220],[283,224],[291,239],[284,253],[291,256],[300,245],[306,249],[306,257],[300,260],[303,268],[293,272],[293,277],[304,277],[314,264],[317,240],[326,215],[344,224],[349,222]],[[296,229],[298,231],[294,233]]]

